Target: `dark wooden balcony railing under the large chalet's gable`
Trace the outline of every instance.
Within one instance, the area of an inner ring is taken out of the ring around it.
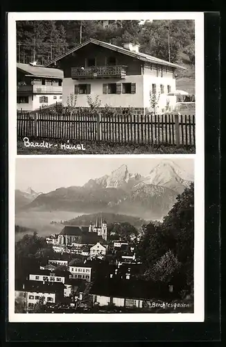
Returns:
[[[71,78],[125,78],[126,66],[71,67]]]

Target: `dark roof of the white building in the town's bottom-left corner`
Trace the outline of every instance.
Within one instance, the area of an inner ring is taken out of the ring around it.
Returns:
[[[24,288],[23,288],[24,285]],[[43,282],[38,282],[38,281],[33,281],[33,280],[16,280],[15,281],[15,290],[18,291],[37,291],[40,293],[57,293],[59,291],[62,291],[64,288],[63,283],[61,282],[48,282],[44,283]]]

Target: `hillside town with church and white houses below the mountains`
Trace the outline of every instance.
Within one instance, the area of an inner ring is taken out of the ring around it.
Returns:
[[[145,232],[153,234],[156,228],[150,224]],[[129,230],[128,224],[126,237],[109,232],[107,221],[97,217],[87,227],[64,226],[58,235],[46,238],[35,232],[25,235],[16,251],[23,275],[16,270],[15,312],[191,312],[190,289],[177,273],[173,253],[164,255],[163,271],[173,264],[174,275],[147,280],[146,260],[140,256],[145,232]],[[23,242],[38,247],[30,264],[19,260],[26,248]]]

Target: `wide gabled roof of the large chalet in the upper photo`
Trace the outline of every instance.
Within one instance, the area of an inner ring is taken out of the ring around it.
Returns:
[[[57,62],[58,60],[61,60],[62,58],[65,58],[66,56],[69,56],[69,54],[78,51],[79,49],[81,49],[84,46],[87,46],[87,44],[97,44],[98,46],[102,46],[104,48],[107,49],[111,49],[112,51],[116,51],[122,54],[125,54],[126,56],[131,56],[132,58],[137,58],[138,60],[144,61],[144,62],[153,62],[155,64],[159,64],[159,65],[165,65],[165,66],[169,66],[169,67],[179,67],[180,69],[185,69],[185,67],[182,67],[181,65],[177,65],[177,64],[173,64],[173,62],[168,62],[166,60],[162,60],[159,58],[155,58],[153,56],[150,56],[149,54],[146,53],[137,53],[137,52],[132,52],[128,49],[125,49],[123,47],[120,46],[116,46],[115,44],[110,44],[107,42],[103,42],[103,41],[99,41],[99,40],[95,40],[90,38],[89,40],[83,42],[82,44],[78,44],[78,46],[74,47],[73,49],[69,49],[69,51],[67,51],[64,54],[60,54],[60,56],[54,58],[53,60],[50,60],[49,62],[46,62],[46,64],[44,64],[44,67],[48,67],[49,65],[53,64],[53,62]]]

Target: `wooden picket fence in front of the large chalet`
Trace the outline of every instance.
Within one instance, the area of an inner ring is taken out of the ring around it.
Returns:
[[[17,112],[17,138],[195,146],[195,115],[53,115]]]

